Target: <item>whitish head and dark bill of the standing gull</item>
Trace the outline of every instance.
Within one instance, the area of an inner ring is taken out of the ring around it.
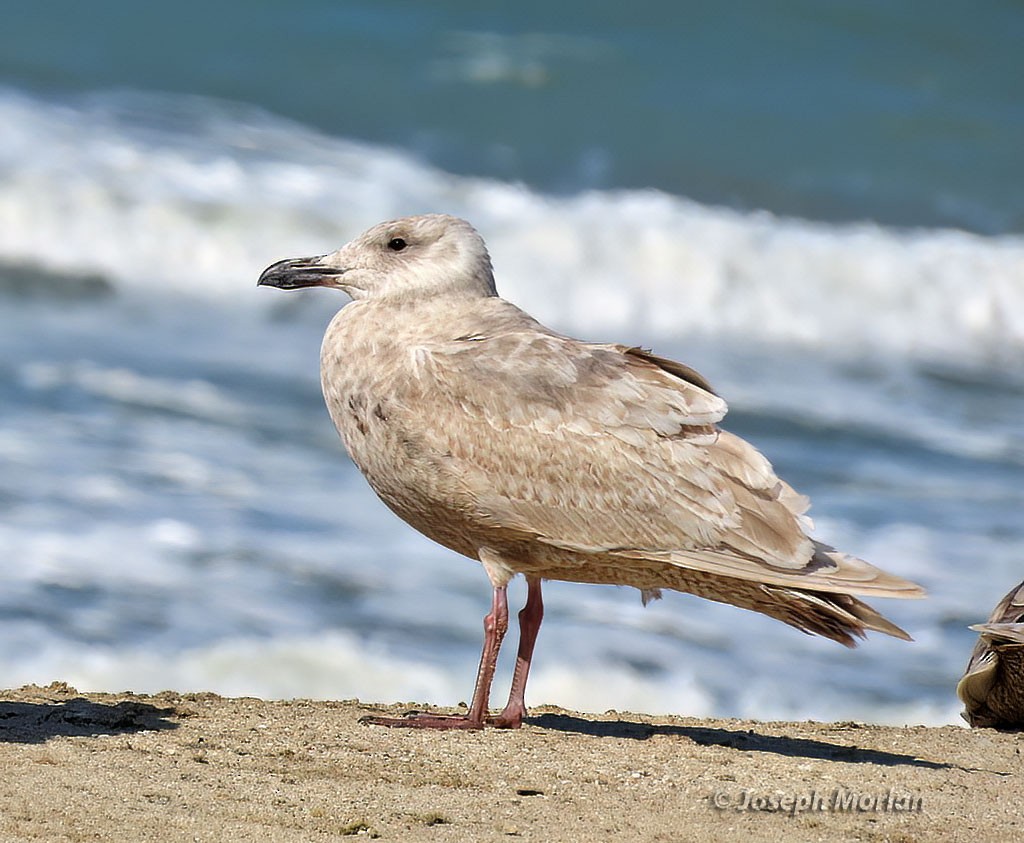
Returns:
[[[393,302],[497,295],[483,239],[446,214],[381,222],[329,255],[280,260],[257,283],[282,290],[335,287],[353,299]]]

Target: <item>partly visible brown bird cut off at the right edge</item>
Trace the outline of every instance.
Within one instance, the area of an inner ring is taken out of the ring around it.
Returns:
[[[1015,586],[992,609],[974,645],[956,696],[972,726],[1024,728],[1024,583]]]

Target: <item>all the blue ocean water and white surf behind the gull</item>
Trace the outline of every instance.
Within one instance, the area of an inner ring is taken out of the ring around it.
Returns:
[[[344,455],[343,296],[255,288],[445,211],[542,321],[701,371],[816,536],[930,592],[877,601],[913,643],[846,650],[551,583],[528,702],[956,722],[1024,578],[1024,11],[52,5],[0,60],[5,684],[466,699],[489,587]]]

